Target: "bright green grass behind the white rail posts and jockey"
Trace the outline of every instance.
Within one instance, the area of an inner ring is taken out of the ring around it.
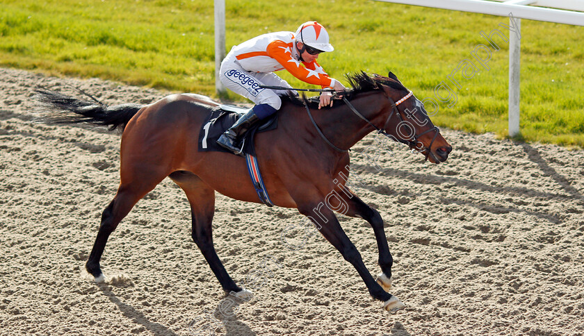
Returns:
[[[505,137],[508,43],[489,71],[471,56],[480,31],[507,17],[375,1],[227,0],[227,46],[270,31],[323,23],[335,47],[319,62],[335,78],[364,70],[394,72],[419,99],[442,81],[457,96],[439,103],[438,126]],[[0,0],[0,66],[58,76],[99,77],[174,92],[214,92],[211,0]],[[526,141],[584,147],[584,27],[521,20],[521,135]],[[446,76],[463,60],[478,73]],[[298,87],[310,87],[279,72]],[[346,81],[344,81],[346,83]],[[444,96],[446,92],[440,91]],[[243,101],[236,94],[229,99]]]

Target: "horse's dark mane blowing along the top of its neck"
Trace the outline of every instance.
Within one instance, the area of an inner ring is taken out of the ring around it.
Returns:
[[[346,74],[346,78],[351,85],[351,88],[346,90],[343,93],[343,96],[345,96],[348,100],[351,100],[358,94],[379,90],[378,85],[387,85],[392,89],[407,91],[405,86],[403,86],[403,84],[398,81],[398,78],[396,78],[394,74],[390,72],[389,76],[392,77],[384,77],[378,74],[372,74],[370,76],[363,71],[357,72],[355,74]],[[294,105],[298,106],[304,106],[305,104],[308,104],[311,107],[318,106],[318,96],[311,98],[308,98],[305,96],[305,94],[302,94],[302,96],[295,96],[290,91],[288,92],[288,95],[282,96],[282,102],[284,101],[290,101]],[[339,106],[339,104],[334,106]]]

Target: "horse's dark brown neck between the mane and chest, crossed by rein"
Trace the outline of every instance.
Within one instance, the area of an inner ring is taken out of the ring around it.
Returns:
[[[336,104],[342,104],[334,110],[326,110],[323,115],[321,128],[323,133],[330,137],[330,141],[341,149],[349,149],[354,144],[362,140],[366,135],[371,133],[374,128],[367,121],[361,119],[352,112],[344,101],[335,101]],[[384,99],[378,92],[367,92],[359,94],[350,101],[351,105],[361,115],[366,117],[378,127],[382,124],[383,116],[380,111],[383,108]]]

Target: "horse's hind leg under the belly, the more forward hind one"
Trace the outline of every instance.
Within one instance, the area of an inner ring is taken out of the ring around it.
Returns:
[[[234,292],[235,296],[245,298],[250,292],[238,287],[234,280],[227,274],[225,267],[219,259],[215,246],[213,246],[212,221],[215,213],[215,190],[211,189],[198,176],[188,171],[175,171],[170,177],[186,193],[190,203],[190,211],[193,217],[192,237],[199,246],[211,271],[219,280],[225,292]]]

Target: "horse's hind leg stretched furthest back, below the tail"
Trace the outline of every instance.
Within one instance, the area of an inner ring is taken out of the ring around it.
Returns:
[[[86,269],[95,277],[95,282],[99,283],[105,280],[99,260],[104,253],[108,237],[115,230],[117,224],[120,224],[120,221],[128,215],[133,206],[164,178],[164,176],[158,178],[154,176],[156,175],[144,176],[143,174],[140,178],[133,179],[134,183],[120,184],[113,201],[102,213],[102,222],[99,224],[99,231],[86,263]]]

